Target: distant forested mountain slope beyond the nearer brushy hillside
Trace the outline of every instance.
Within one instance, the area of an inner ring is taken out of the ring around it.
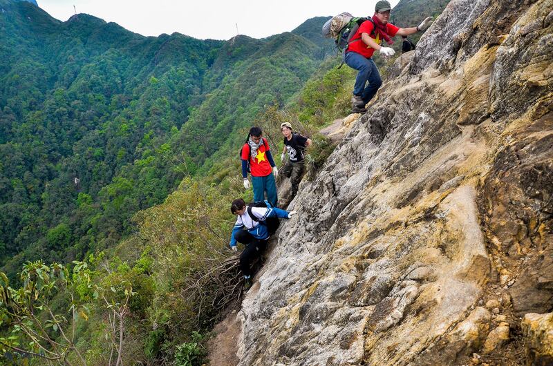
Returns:
[[[135,212],[228,157],[325,54],[324,18],[214,41],[0,8],[0,266],[12,278],[25,260],[112,247]]]

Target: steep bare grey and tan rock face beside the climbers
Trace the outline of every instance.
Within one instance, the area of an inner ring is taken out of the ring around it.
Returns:
[[[552,9],[449,3],[302,182],[239,365],[465,363],[509,342],[476,307],[498,274],[517,314],[550,311]]]

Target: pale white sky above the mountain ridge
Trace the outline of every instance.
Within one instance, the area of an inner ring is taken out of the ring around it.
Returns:
[[[199,39],[229,39],[236,35],[268,37],[290,31],[312,17],[350,12],[373,15],[377,0],[251,1],[251,0],[37,0],[40,8],[66,21],[77,12],[94,15],[141,35],[179,32]],[[390,1],[395,6],[399,0]]]

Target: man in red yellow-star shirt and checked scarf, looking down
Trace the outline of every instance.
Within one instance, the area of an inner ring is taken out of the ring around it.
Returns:
[[[247,142],[242,147],[242,177],[244,188],[250,189],[250,182],[247,180],[248,165],[252,174],[252,185],[254,186],[254,201],[267,200],[277,206],[277,184],[275,180],[279,175],[279,169],[274,164],[267,139],[262,136],[261,128],[252,127],[247,135]]]

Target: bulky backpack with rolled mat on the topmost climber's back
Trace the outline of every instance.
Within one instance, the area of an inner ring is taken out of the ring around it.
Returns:
[[[371,37],[376,38],[376,25],[371,17],[353,17],[353,15],[348,12],[343,12],[328,19],[323,26],[323,37],[333,38],[338,52],[344,52],[350,43],[361,40],[361,38],[354,39],[353,41],[351,39],[364,21],[371,21],[371,23],[373,23]]]

